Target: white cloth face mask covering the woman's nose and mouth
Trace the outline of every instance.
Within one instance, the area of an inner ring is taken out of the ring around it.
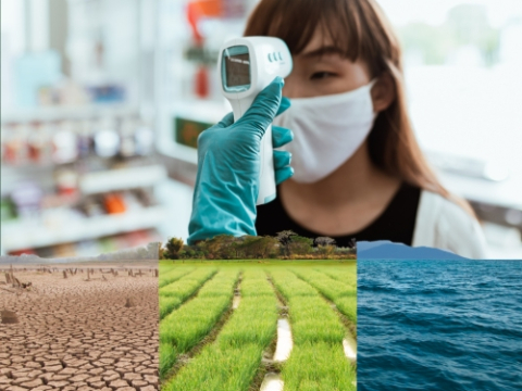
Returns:
[[[375,81],[348,92],[290,99],[290,108],[274,119],[274,125],[294,133],[294,140],[281,148],[291,153],[291,179],[315,182],[353,155],[376,116],[370,94]]]

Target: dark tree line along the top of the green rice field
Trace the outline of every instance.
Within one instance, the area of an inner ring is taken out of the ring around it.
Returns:
[[[306,238],[291,230],[277,232],[277,236],[219,235],[194,245],[183,239],[170,238],[160,248],[160,260],[330,260],[356,258],[355,240],[348,248],[337,247],[328,237]]]

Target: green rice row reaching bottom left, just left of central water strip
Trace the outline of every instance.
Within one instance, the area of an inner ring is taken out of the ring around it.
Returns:
[[[189,365],[183,367],[162,390],[249,389],[261,363],[262,352],[275,337],[277,323],[277,301],[266,277],[263,273],[246,272],[241,281],[241,294],[256,288],[264,294],[241,295],[239,307],[217,339],[207,345]],[[268,294],[269,289],[271,294]]]

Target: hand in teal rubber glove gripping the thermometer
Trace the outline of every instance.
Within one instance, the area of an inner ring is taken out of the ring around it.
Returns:
[[[282,97],[284,80],[276,77],[234,123],[228,113],[198,137],[198,174],[188,226],[188,244],[217,235],[256,235],[256,200],[259,193],[260,148],[266,127],[290,106]],[[289,129],[272,126],[274,148],[291,141]],[[290,153],[274,150],[277,184],[288,179]]]

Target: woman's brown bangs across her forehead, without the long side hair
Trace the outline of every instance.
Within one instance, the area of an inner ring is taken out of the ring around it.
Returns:
[[[283,39],[291,54],[300,54],[319,29],[351,61],[371,55],[370,39],[363,41],[361,10],[349,0],[263,0],[251,14],[245,36]],[[369,38],[369,37],[368,37]]]

